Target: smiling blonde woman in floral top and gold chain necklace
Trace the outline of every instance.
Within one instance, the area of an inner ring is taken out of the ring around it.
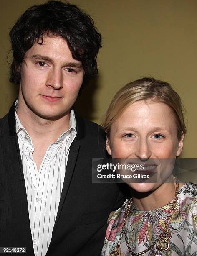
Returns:
[[[168,165],[186,133],[179,95],[166,82],[136,80],[117,92],[103,125],[112,158],[141,162],[148,174],[156,168],[165,182],[125,179],[131,199],[109,216],[102,255],[197,255],[197,186],[179,183]]]

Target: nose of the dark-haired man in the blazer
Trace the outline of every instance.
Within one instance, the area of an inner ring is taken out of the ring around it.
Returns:
[[[63,87],[63,75],[61,69],[53,68],[51,70],[48,74],[46,85],[53,87],[55,90],[59,90]]]

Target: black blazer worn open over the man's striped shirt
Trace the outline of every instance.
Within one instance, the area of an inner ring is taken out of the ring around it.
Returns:
[[[76,115],[52,239],[46,256],[97,256],[109,213],[125,200],[117,184],[93,184],[92,158],[106,158],[102,128]],[[14,105],[0,119],[0,247],[26,247],[34,256]],[[22,254],[19,254],[22,255]]]

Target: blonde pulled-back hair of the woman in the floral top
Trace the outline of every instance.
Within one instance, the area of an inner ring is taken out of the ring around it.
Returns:
[[[182,133],[186,133],[187,129],[183,115],[184,107],[177,92],[167,82],[156,80],[153,77],[144,77],[126,84],[111,101],[102,122],[108,138],[110,137],[111,125],[116,122],[121,113],[134,102],[140,100],[151,100],[168,105],[175,116],[178,139],[181,139]]]

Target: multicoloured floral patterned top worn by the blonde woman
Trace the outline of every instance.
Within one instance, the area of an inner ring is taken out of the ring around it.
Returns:
[[[109,255],[117,246],[121,229],[124,223],[125,209],[123,207],[111,216],[102,249],[102,256]],[[172,200],[173,202],[173,200]],[[129,246],[135,253],[144,251],[163,232],[172,202],[155,210],[141,211],[134,206],[126,221],[126,232]],[[168,225],[170,248],[165,252],[159,252],[160,256],[197,256],[197,185],[187,182],[179,191],[176,208]],[[155,246],[144,256],[153,256],[156,253]],[[125,236],[121,239],[121,256],[131,256]]]

